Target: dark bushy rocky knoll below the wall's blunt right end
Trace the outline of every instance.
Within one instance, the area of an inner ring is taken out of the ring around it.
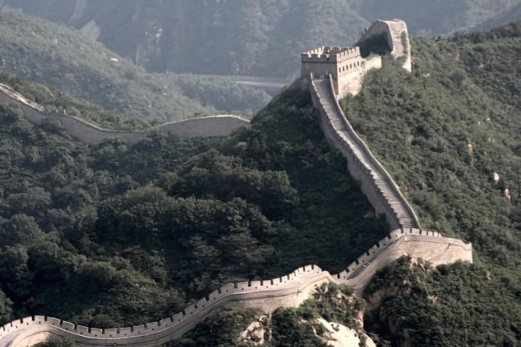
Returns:
[[[390,346],[517,346],[521,287],[481,264],[432,268],[404,256],[367,287],[365,328]]]

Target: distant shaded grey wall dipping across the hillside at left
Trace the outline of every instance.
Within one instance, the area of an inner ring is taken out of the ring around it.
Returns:
[[[57,120],[73,138],[89,145],[99,144],[107,138],[123,138],[128,144],[132,145],[154,131],[172,134],[180,140],[195,137],[229,136],[235,129],[250,123],[248,120],[235,115],[215,115],[170,122],[143,131],[108,130],[70,115],[45,110],[42,106],[24,98],[3,84],[0,84],[0,102],[19,104],[24,118],[32,123],[38,124],[46,118]]]

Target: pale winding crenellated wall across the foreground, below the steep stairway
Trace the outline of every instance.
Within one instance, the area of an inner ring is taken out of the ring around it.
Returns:
[[[379,268],[405,253],[421,255],[435,265],[457,260],[472,262],[470,244],[466,245],[461,240],[444,238],[426,230],[398,229],[377,242],[338,275],[331,276],[316,265],[307,265],[289,275],[270,280],[231,283],[176,315],[158,322],[126,328],[95,329],[53,317],[25,317],[0,327],[0,347],[25,347],[51,336],[67,337],[80,346],[153,347],[180,338],[223,306],[258,307],[266,312],[272,312],[278,307],[296,307],[308,299],[315,288],[326,282],[348,284],[360,293]]]

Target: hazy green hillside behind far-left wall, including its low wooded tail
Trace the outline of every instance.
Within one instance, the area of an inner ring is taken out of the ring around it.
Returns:
[[[159,122],[231,111],[252,115],[270,99],[225,76],[147,73],[76,30],[18,14],[0,13],[0,69],[129,118]]]

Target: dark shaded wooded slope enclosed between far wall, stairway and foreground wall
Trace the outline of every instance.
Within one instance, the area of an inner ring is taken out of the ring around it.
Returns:
[[[218,147],[161,134],[85,147],[0,111],[3,322],[152,321],[233,280],[337,272],[387,231],[299,88]]]

